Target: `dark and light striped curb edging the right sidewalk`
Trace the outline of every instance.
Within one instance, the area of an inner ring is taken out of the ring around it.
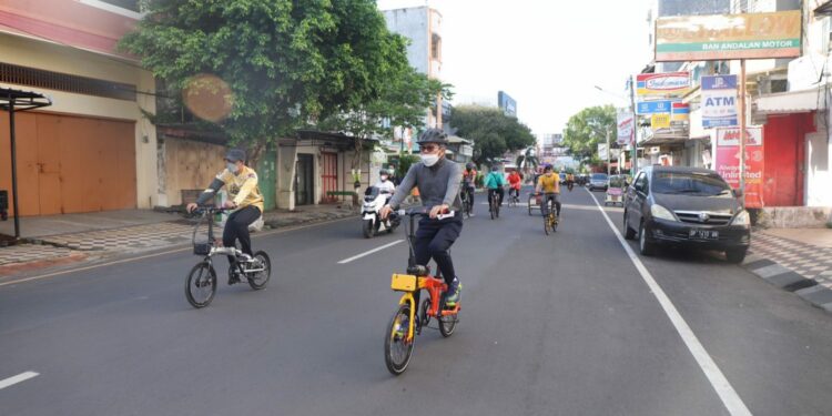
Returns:
[[[745,257],[742,267],[777,287],[797,294],[814,307],[832,312],[832,290],[818,284],[814,278],[755,254]]]

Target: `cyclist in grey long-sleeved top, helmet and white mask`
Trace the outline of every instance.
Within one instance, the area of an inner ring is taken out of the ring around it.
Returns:
[[[439,266],[445,283],[448,284],[445,304],[454,307],[459,302],[461,284],[454,270],[448,248],[463,231],[463,202],[459,199],[459,184],[463,169],[456,162],[445,159],[448,135],[442,129],[428,129],[417,141],[422,161],[407,171],[389,204],[382,209],[382,219],[386,220],[394,209],[404,202],[414,186],[419,189],[422,205],[430,207],[430,217],[419,220],[413,250],[416,264],[427,265],[430,258]],[[437,220],[448,210],[456,213],[453,217]],[[418,298],[416,300],[418,305]]]

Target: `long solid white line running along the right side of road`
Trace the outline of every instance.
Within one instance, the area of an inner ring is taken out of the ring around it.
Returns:
[[[722,404],[726,405],[728,412],[731,415],[751,415],[751,412],[748,409],[748,407],[745,407],[745,404],[742,402],[742,398],[740,398],[740,395],[737,394],[737,390],[733,389],[731,384],[728,382],[728,378],[726,378],[726,376],[722,374],[722,371],[720,371],[719,366],[717,366],[717,363],[713,362],[713,358],[711,358],[711,356],[704,349],[702,343],[699,342],[697,335],[693,334],[693,331],[690,328],[690,326],[688,326],[688,323],[684,321],[682,315],[679,314],[679,311],[676,310],[673,303],[670,302],[668,295],[664,294],[664,291],[661,290],[661,286],[659,286],[647,267],[645,267],[645,264],[641,263],[641,260],[636,255],[636,252],[632,251],[632,247],[630,247],[623,236],[621,236],[621,233],[618,231],[618,229],[612,224],[612,221],[607,215],[607,212],[603,211],[601,204],[598,203],[598,200],[595,197],[595,195],[592,195],[591,192],[589,192],[589,195],[592,196],[592,201],[595,201],[596,206],[598,206],[598,211],[600,211],[603,215],[603,219],[607,220],[607,224],[609,224],[610,229],[612,229],[616,237],[618,237],[618,242],[621,243],[621,246],[625,248],[625,252],[627,252],[630,261],[632,261],[632,264],[639,271],[641,278],[645,280],[645,283],[647,283],[648,287],[650,287],[650,291],[652,292],[653,296],[656,296],[656,300],[659,301],[661,308],[664,310],[664,314],[667,314],[670,318],[670,322],[679,333],[682,342],[684,342],[688,351],[690,351],[691,355],[693,355],[697,364],[699,364],[699,368],[701,368],[706,377],[708,377],[708,381],[711,383],[711,386],[713,386],[713,389],[717,390],[719,398],[722,399]]]

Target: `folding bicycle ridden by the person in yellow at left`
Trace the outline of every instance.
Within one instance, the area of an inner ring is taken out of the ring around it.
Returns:
[[[216,295],[216,271],[212,257],[215,255],[231,255],[234,261],[229,265],[229,284],[241,282],[245,278],[253,290],[258,291],[266,287],[268,278],[272,275],[272,261],[268,254],[263,251],[254,253],[253,256],[243,253],[237,247],[224,247],[222,242],[214,237],[214,215],[229,211],[221,207],[201,207],[194,211],[200,215],[193,229],[193,254],[203,256],[202,262],[197,263],[185,280],[185,297],[191,306],[200,308],[211,304]],[[203,242],[196,242],[196,234],[203,221],[207,222],[207,239]]]

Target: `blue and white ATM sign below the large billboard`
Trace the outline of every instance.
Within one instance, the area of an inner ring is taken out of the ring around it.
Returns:
[[[702,126],[737,124],[737,75],[702,77]]]

